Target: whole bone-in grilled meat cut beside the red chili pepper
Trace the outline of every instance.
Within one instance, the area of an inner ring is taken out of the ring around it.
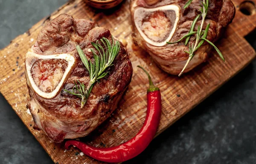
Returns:
[[[80,45],[87,59],[93,59],[90,48],[97,51],[91,42],[102,37],[112,43],[109,30],[61,14],[42,29],[26,54],[26,80],[31,97],[27,107],[35,122],[33,127],[43,130],[55,142],[88,135],[116,109],[131,82],[131,61],[120,43],[113,65],[106,70],[107,76],[95,83],[83,108],[79,97],[64,91],[72,91],[74,81],[85,86],[90,81],[76,45]]]

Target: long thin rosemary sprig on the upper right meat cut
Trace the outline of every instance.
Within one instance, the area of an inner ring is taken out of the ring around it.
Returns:
[[[192,0],[189,0],[185,4],[184,8],[187,8],[191,3],[192,3]],[[209,0],[203,0],[202,7],[201,7],[201,10],[200,10],[201,14],[199,14],[193,20],[193,23],[191,25],[191,28],[190,28],[188,34],[184,35],[180,40],[177,40],[175,42],[167,42],[168,44],[174,44],[174,43],[180,42],[181,40],[186,38],[185,45],[187,45],[191,35],[196,34],[195,44],[192,44],[192,45],[189,44],[189,52],[185,51],[186,53],[189,54],[189,59],[187,60],[185,66],[182,69],[182,71],[180,72],[179,76],[181,76],[183,74],[183,71],[186,69],[186,67],[189,64],[190,60],[194,57],[195,51],[197,51],[198,48],[201,47],[201,45],[204,43],[204,41],[207,41],[210,45],[212,45],[215,48],[215,50],[217,51],[217,53],[219,54],[219,56],[221,57],[221,59],[223,61],[225,61],[223,55],[221,54],[221,51],[219,51],[218,48],[212,42],[210,42],[209,40],[206,39],[210,24],[207,25],[207,27],[205,28],[204,31],[202,30],[203,29],[203,25],[204,25],[204,21],[205,21],[206,15],[207,15],[207,11],[208,11],[208,5],[209,5]],[[199,17],[202,17],[201,25],[198,26],[198,30],[195,32],[194,31],[195,24],[197,23]]]

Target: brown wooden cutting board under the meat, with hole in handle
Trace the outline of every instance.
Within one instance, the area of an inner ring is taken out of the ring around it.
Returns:
[[[207,62],[188,74],[178,77],[164,73],[157,68],[145,52],[134,48],[131,37],[129,1],[123,2],[119,7],[110,11],[101,12],[90,8],[83,0],[72,0],[35,24],[26,33],[16,37],[10,45],[0,51],[0,92],[55,163],[101,163],[85,155],[77,155],[79,150],[74,147],[66,151],[63,143],[52,143],[44,132],[32,129],[32,116],[26,109],[26,103],[30,98],[24,74],[24,56],[44,25],[61,13],[71,14],[75,18],[95,20],[99,26],[108,28],[115,37],[128,42],[127,49],[134,68],[131,84],[112,116],[92,135],[81,139],[93,146],[111,147],[131,139],[145,120],[148,79],[142,70],[138,70],[137,65],[142,65],[150,71],[155,85],[162,91],[163,111],[158,135],[254,59],[255,51],[244,36],[256,27],[256,16],[253,15],[255,8],[252,4],[240,6],[243,1],[233,0],[236,6],[236,17],[227,28],[226,34],[217,43],[226,62],[222,62],[218,54],[213,51]],[[256,2],[256,0],[253,1]],[[250,10],[252,15],[242,14],[239,8]]]

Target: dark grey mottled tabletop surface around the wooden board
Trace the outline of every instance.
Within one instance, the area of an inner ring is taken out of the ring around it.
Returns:
[[[66,1],[0,0],[0,48]],[[255,164],[255,81],[256,61],[125,163]],[[53,162],[0,95],[0,164],[35,163]]]

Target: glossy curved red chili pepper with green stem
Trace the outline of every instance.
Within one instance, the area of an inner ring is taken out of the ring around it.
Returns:
[[[142,68],[141,66],[138,67]],[[144,68],[142,69],[145,71]],[[81,141],[69,140],[65,144],[65,149],[68,150],[70,145],[74,145],[91,158],[111,163],[127,161],[143,152],[154,138],[161,116],[160,90],[154,86],[148,72],[145,71],[145,73],[149,80],[147,116],[143,127],[134,138],[118,146],[108,148],[93,147]]]

